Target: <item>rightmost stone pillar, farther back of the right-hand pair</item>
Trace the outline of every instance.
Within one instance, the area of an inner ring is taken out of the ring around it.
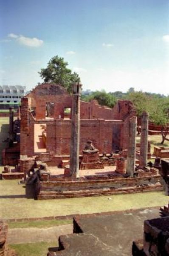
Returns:
[[[140,164],[142,168],[147,164],[147,153],[148,153],[148,125],[149,125],[149,114],[144,111],[141,116],[141,140],[140,140]]]

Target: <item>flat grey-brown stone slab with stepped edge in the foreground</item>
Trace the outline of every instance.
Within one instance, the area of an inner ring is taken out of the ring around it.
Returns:
[[[131,212],[79,216],[74,218],[73,235],[59,237],[59,256],[129,256],[132,241],[143,239],[143,223],[159,216],[158,208]]]

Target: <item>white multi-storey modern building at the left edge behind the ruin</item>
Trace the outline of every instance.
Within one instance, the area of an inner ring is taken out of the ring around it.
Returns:
[[[22,85],[0,85],[0,103],[20,103],[25,91]]]

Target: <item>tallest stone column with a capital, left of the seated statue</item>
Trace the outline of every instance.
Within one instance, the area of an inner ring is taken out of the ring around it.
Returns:
[[[71,119],[71,145],[70,145],[70,176],[79,177],[79,140],[80,140],[80,96],[79,83],[72,85],[72,119]]]

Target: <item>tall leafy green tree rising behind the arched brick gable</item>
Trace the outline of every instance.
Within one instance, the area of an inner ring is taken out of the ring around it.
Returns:
[[[71,84],[80,82],[80,77],[76,72],[68,68],[68,62],[64,58],[56,55],[51,58],[46,68],[41,68],[38,72],[45,83],[61,84],[68,92],[71,91]]]

